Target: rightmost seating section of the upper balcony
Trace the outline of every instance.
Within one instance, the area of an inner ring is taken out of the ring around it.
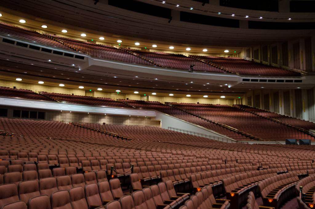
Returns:
[[[269,65],[255,63],[252,61],[243,60],[239,57],[207,57],[193,56],[202,59],[203,61],[214,63],[224,69],[237,72],[240,75],[264,75],[264,76],[300,76],[300,73],[276,68]]]

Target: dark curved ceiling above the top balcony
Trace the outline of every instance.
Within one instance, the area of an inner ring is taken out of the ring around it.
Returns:
[[[164,50],[168,49],[169,45],[173,45],[180,50],[185,50],[187,46],[217,48],[218,51],[222,51],[225,47],[238,50],[240,47],[270,44],[311,36],[315,31],[311,29],[289,30],[288,33],[288,30],[248,29],[248,20],[262,21],[256,17],[262,13],[264,17],[270,18],[272,21],[288,21],[288,15],[292,16],[291,21],[314,21],[313,13],[288,14],[287,12],[255,11],[222,7],[215,4],[206,4],[203,7],[201,3],[190,0],[173,0],[167,1],[165,4],[161,1],[142,0],[145,3],[171,8],[173,18],[169,23],[169,19],[166,18],[144,15],[110,6],[105,0],[100,0],[96,5],[94,2],[93,0],[24,0],[19,2],[2,0],[0,9],[16,18],[26,18],[34,21],[34,24],[29,25],[29,27],[40,28],[41,24],[46,24],[49,27],[45,30],[54,33],[60,33],[60,28],[64,27],[68,31],[73,31],[71,35],[74,36],[86,33],[88,34],[87,38],[91,39],[98,39],[97,36],[106,36],[108,39],[125,39],[126,42],[130,43],[140,40],[148,43],[149,46],[157,44],[157,49]],[[180,4],[183,7],[176,7],[173,4]],[[190,7],[189,5],[193,5],[194,9],[185,8]],[[179,20],[178,16],[181,10],[203,15],[208,15],[211,11],[211,15],[229,16],[229,18],[234,18],[228,15],[229,13],[235,13],[235,18],[240,20],[240,28],[183,22]],[[216,14],[217,11],[221,11],[221,14]],[[214,12],[215,14],[212,14]],[[249,15],[249,18],[246,19],[245,15]],[[4,16],[2,18],[5,20]],[[15,22],[17,20],[11,18],[7,21]]]

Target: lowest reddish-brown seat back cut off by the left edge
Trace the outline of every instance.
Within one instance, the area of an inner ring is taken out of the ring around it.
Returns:
[[[18,187],[14,183],[0,185],[0,207],[19,201]]]

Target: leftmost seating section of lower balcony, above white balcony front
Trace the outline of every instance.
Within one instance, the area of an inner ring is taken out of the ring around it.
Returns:
[[[42,95],[39,95],[31,90],[9,88],[9,87],[0,87],[0,96],[51,101],[50,99],[43,97]]]

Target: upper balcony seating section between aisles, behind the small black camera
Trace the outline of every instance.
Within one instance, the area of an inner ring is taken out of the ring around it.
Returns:
[[[205,72],[216,72],[216,73],[225,73],[221,69],[214,68],[205,63],[198,62],[197,60],[193,60],[190,57],[186,57],[181,54],[168,54],[163,52],[149,52],[149,51],[141,51],[134,49],[126,49],[132,52],[135,52],[141,57],[145,57],[159,65],[162,65],[166,68],[174,68],[174,69],[185,69],[190,70],[190,65],[195,65],[193,70],[196,71],[205,71]]]

